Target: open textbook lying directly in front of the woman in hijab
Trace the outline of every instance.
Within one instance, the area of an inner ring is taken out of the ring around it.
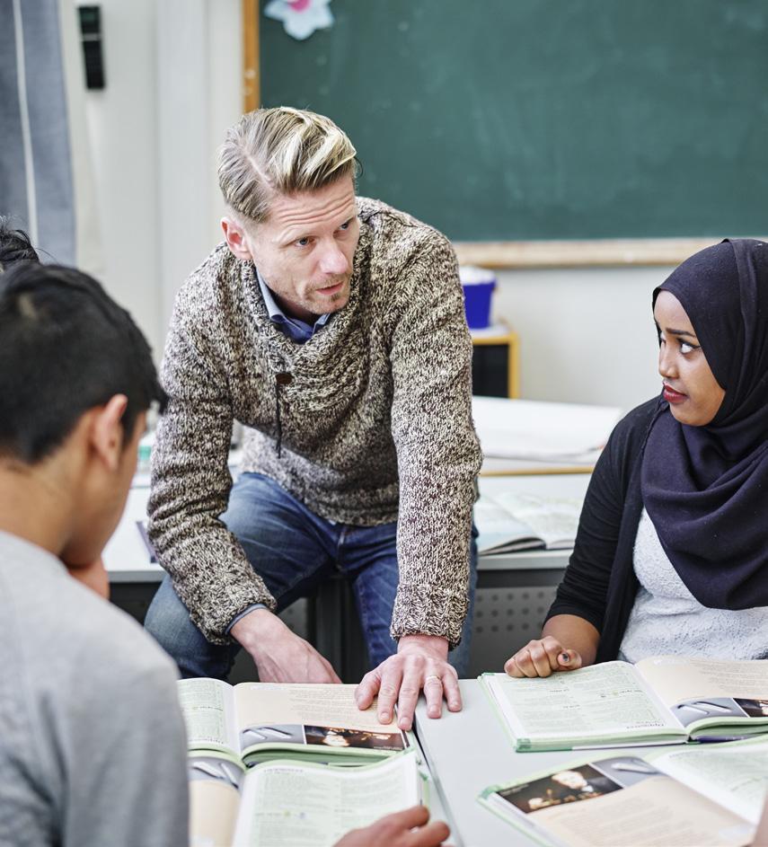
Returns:
[[[484,674],[519,751],[733,740],[768,733],[768,662],[659,656],[543,679]]]

